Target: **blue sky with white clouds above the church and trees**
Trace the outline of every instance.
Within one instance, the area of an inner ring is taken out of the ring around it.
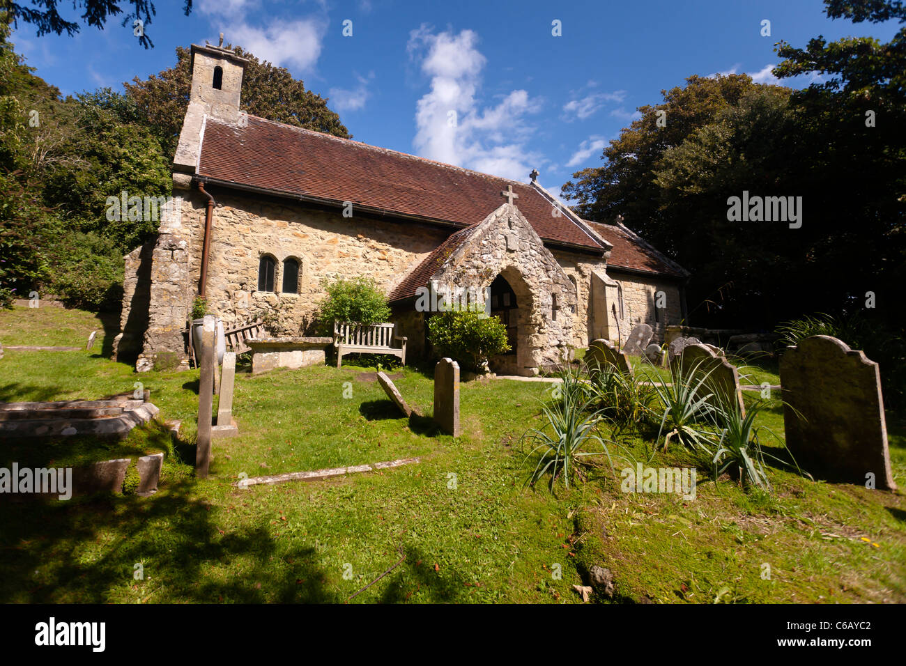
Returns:
[[[537,168],[554,192],[573,171],[601,163],[602,147],[636,107],[659,102],[662,89],[691,74],[774,82],[779,40],[887,41],[897,28],[830,21],[820,0],[196,0],[188,17],[181,0],[155,4],[147,51],[117,20],[75,37],[38,38],[23,24],[13,41],[67,94],[121,90],[172,66],[178,45],[217,43],[224,32],[331,98],[356,140],[523,181]],[[761,35],[765,19],[770,36]],[[342,34],[346,20],[352,36]]]

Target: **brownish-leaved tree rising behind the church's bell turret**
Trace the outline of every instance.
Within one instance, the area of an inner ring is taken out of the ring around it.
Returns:
[[[249,61],[240,96],[243,111],[306,130],[352,138],[340,116],[327,107],[327,100],[305,90],[304,83],[295,80],[285,67],[260,61],[239,46],[228,44],[226,48]],[[168,155],[176,152],[192,82],[191,52],[179,46],[176,53],[176,66],[144,81],[136,77],[131,83],[123,83],[143,121],[159,136]]]

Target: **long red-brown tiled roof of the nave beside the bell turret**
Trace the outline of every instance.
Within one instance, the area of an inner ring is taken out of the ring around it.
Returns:
[[[244,127],[207,118],[198,175],[463,227],[504,203],[500,192],[512,185],[516,206],[542,239],[603,251],[569,217],[552,216],[530,185],[255,116]]]

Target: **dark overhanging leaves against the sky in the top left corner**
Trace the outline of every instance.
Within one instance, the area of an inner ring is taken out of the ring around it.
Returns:
[[[33,24],[38,29],[38,36],[44,34],[63,34],[64,32],[72,37],[81,29],[78,21],[70,21],[63,18],[57,9],[58,0],[31,0],[28,3],[5,2],[3,12],[4,20],[8,24],[18,25],[19,21],[26,24]],[[81,19],[86,25],[92,25],[99,30],[103,30],[104,24],[108,19],[122,14],[120,5],[132,7],[132,11],[124,14],[122,25],[133,26],[135,20],[139,20],[142,29],[138,35],[139,43],[146,49],[154,47],[144,26],[150,25],[152,16],[157,14],[154,3],[149,0],[130,0],[130,2],[119,2],[118,0],[73,0],[72,10],[82,9],[82,15],[76,18]],[[183,12],[188,16],[192,13],[192,0],[184,0]],[[134,34],[134,31],[133,31]]]

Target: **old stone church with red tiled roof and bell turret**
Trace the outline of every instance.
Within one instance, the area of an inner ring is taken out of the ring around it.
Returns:
[[[120,359],[187,356],[196,296],[227,328],[264,320],[302,335],[324,278],[373,278],[408,355],[427,353],[419,289],[489,288],[514,349],[493,360],[533,375],[572,347],[652,342],[685,316],[689,274],[618,220],[583,220],[537,182],[496,178],[239,111],[246,61],[191,48],[192,88],[159,235],[125,257]],[[279,330],[273,330],[279,329]]]

